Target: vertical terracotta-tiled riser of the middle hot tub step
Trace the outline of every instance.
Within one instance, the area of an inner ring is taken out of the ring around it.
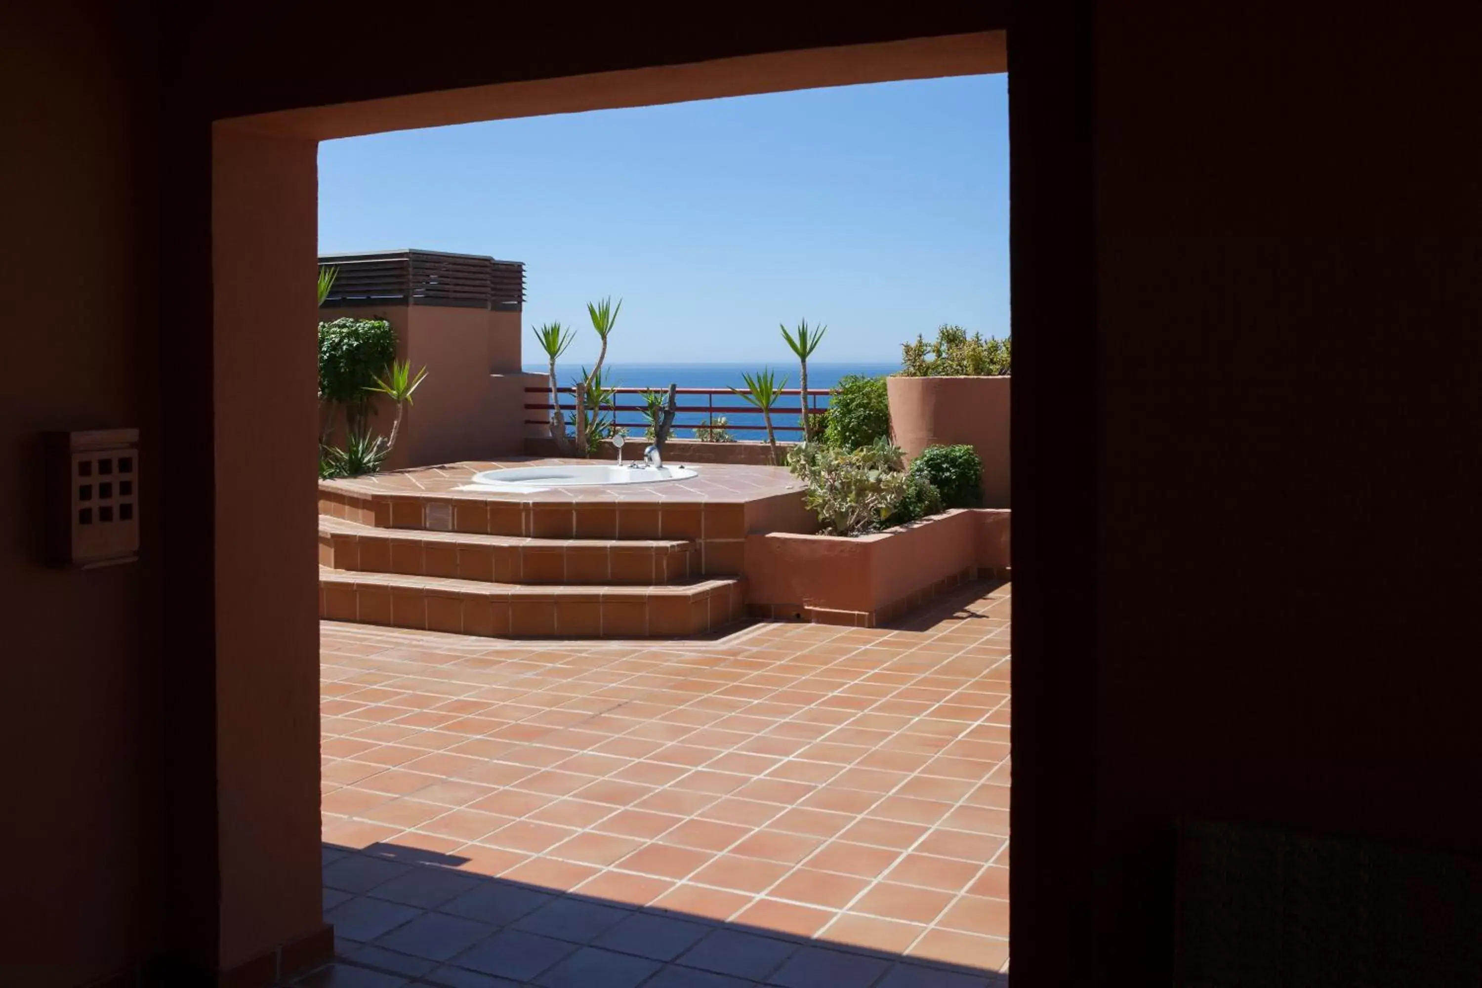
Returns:
[[[695,555],[691,547],[491,547],[416,538],[319,536],[319,561],[330,569],[498,584],[662,585],[698,575]]]

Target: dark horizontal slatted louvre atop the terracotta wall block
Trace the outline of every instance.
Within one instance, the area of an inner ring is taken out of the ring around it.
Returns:
[[[439,250],[378,250],[326,253],[319,264],[336,271],[326,308],[400,304],[520,311],[525,305],[520,261]]]

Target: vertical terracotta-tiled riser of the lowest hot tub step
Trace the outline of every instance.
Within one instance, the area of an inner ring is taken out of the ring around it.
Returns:
[[[742,619],[740,584],[702,597],[646,600],[502,598],[422,588],[322,581],[319,615],[329,621],[514,638],[645,638],[704,634]]]

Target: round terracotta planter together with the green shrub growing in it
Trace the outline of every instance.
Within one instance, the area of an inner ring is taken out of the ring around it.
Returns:
[[[971,446],[983,461],[983,505],[1009,507],[1008,339],[941,326],[901,347],[901,370],[886,381],[891,431],[908,461],[929,446]]]

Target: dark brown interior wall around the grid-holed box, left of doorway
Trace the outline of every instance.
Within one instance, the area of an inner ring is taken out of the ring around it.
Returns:
[[[157,50],[148,7],[0,13],[0,982],[76,985],[156,927]],[[44,95],[44,99],[41,98]],[[49,430],[139,427],[138,563],[41,563]]]

